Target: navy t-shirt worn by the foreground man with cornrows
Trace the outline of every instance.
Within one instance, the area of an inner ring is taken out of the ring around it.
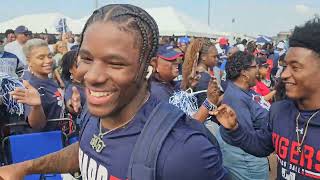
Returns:
[[[132,150],[150,112],[160,100],[151,96],[131,123],[103,137],[106,147],[97,153],[90,141],[99,133],[99,118],[90,113],[81,131],[79,166],[84,179],[125,180]],[[108,130],[103,129],[103,132]],[[156,169],[157,180],[224,179],[219,146],[207,137],[178,123],[162,146]]]

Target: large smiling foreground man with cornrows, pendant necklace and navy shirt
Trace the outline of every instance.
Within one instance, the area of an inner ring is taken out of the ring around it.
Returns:
[[[136,153],[133,148],[137,139],[155,133],[147,131],[149,134],[142,136],[143,128],[149,121],[161,119],[162,114],[151,116],[150,112],[159,113],[160,109],[154,111],[156,107],[173,107],[161,103],[158,106],[159,101],[148,90],[148,69],[159,39],[154,19],[139,7],[107,5],[93,13],[82,34],[79,56],[83,62],[80,66],[87,68],[84,82],[88,111],[83,110],[80,117],[84,120],[80,142],[35,160],[1,167],[0,176],[22,179],[32,173],[80,170],[83,179],[99,180],[225,179],[218,144],[190,128],[188,123],[199,127],[201,124],[187,120],[186,116],[181,116],[166,137],[159,155],[150,157],[157,160],[155,168],[128,167],[139,164],[130,161]],[[140,158],[143,157],[148,157],[148,153]],[[136,178],[131,178],[130,173]]]

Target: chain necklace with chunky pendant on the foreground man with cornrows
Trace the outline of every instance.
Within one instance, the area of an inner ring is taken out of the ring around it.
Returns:
[[[145,100],[143,101],[143,103],[141,103],[141,105],[139,106],[138,110],[148,101],[150,97],[150,94],[148,94],[145,98]],[[102,123],[101,123],[101,120],[100,123],[99,123],[99,134],[96,135],[96,134],[93,134],[93,137],[91,138],[91,141],[90,141],[90,145],[92,147],[93,150],[95,150],[97,153],[101,153],[101,151],[106,147],[106,144],[104,143],[104,141],[102,140],[103,139],[103,136],[119,129],[119,128],[124,128],[126,125],[128,125],[132,119],[136,116],[136,114],[134,114],[126,123],[124,124],[121,124],[120,126],[118,127],[115,127],[107,132],[104,132],[102,133]]]

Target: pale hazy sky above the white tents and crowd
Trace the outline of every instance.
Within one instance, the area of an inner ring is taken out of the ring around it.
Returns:
[[[209,0],[98,0],[98,6],[129,3],[142,8],[172,6],[208,24]],[[90,15],[95,0],[1,0],[0,22],[36,13],[59,12],[71,18]],[[320,0],[211,0],[210,25],[225,32],[276,35],[320,12]],[[232,23],[232,19],[235,22]]]

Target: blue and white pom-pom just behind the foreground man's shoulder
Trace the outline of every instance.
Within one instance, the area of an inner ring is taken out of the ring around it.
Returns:
[[[174,92],[169,99],[169,103],[178,107],[187,115],[192,116],[198,111],[198,103],[195,95],[205,92],[207,92],[207,90],[192,92],[191,89]]]

